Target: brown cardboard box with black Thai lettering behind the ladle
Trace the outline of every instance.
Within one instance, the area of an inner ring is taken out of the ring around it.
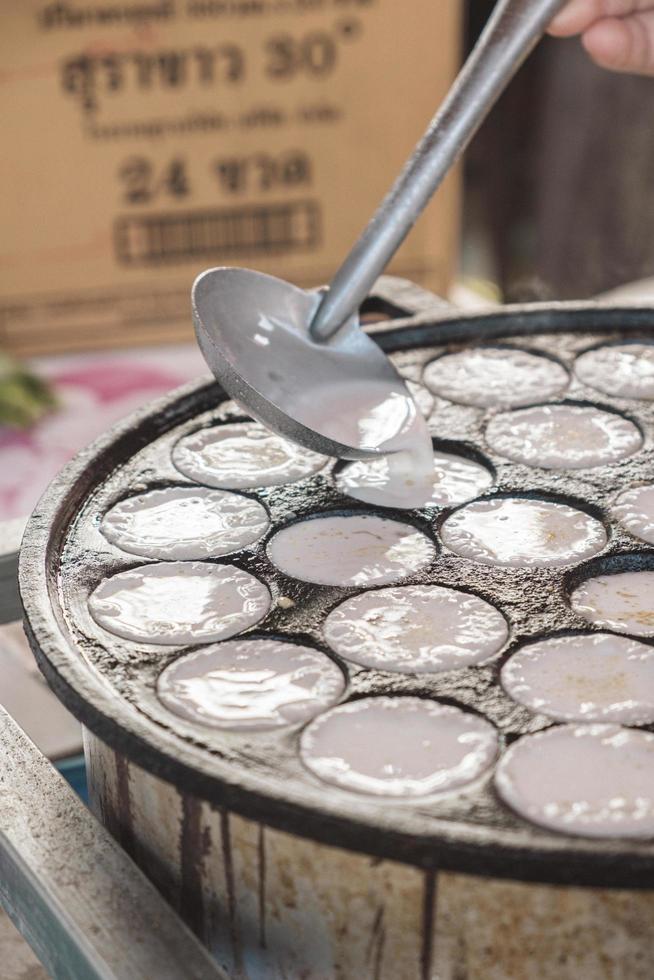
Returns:
[[[0,347],[191,336],[213,265],[329,280],[451,82],[460,0],[0,0]],[[442,291],[456,178],[391,271]]]

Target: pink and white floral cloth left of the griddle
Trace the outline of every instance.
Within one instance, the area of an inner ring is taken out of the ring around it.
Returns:
[[[29,514],[75,453],[130,412],[207,373],[195,345],[38,358],[60,407],[26,432],[0,427],[0,520]]]

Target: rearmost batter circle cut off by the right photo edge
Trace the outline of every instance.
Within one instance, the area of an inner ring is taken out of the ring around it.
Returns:
[[[575,374],[615,398],[654,399],[654,344],[608,344],[580,354]]]

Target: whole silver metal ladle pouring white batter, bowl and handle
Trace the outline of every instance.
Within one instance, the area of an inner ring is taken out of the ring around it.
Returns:
[[[248,269],[209,269],[196,279],[193,320],[204,357],[232,398],[268,428],[345,459],[398,448],[415,406],[386,355],[360,329],[358,309],[565,2],[499,0],[441,109],[327,291],[299,289]]]

